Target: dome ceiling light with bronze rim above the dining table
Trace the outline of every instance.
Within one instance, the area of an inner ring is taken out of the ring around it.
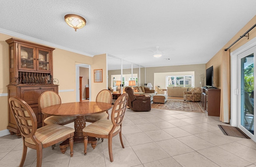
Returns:
[[[86,20],[76,14],[67,14],[64,18],[68,26],[74,28],[75,31],[76,29],[81,29],[86,25]]]

